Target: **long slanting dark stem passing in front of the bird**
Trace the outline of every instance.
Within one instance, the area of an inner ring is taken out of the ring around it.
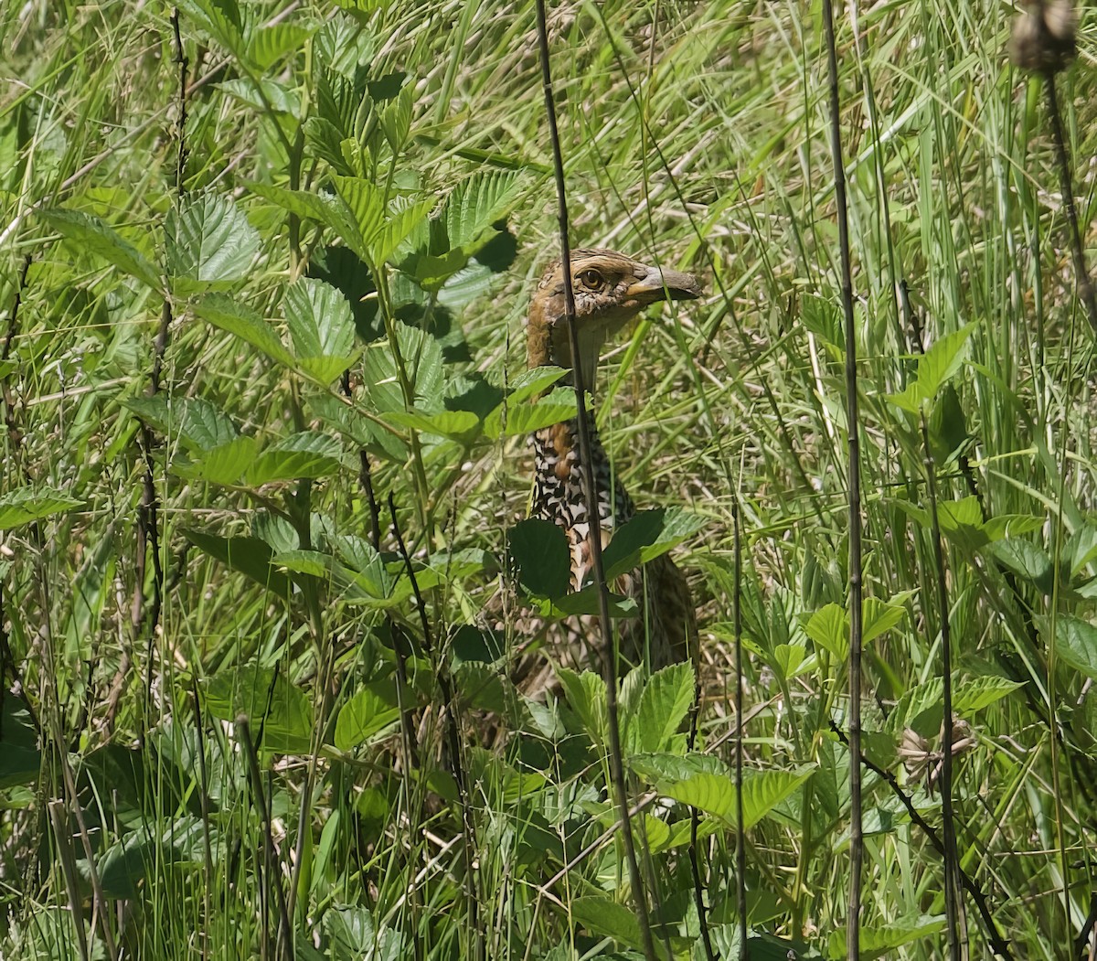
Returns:
[[[556,202],[559,218],[561,262],[564,264],[564,320],[567,324],[568,339],[572,346],[572,357],[581,357],[579,350],[579,332],[575,323],[575,292],[572,290],[572,248],[567,230],[567,188],[564,183],[564,157],[559,146],[559,132],[556,128],[556,101],[553,95],[552,70],[548,66],[548,29],[545,23],[544,0],[538,0],[538,47],[541,54],[541,80],[544,88],[545,114],[548,121],[548,139],[552,143],[553,168],[556,179]],[[574,384],[578,404],[579,453],[583,462],[583,486],[586,495],[587,517],[597,518],[598,498],[595,487],[593,457],[590,454],[590,429],[587,422],[586,385],[583,383],[583,364],[576,363]],[[636,845],[632,836],[632,822],[629,818],[629,794],[624,781],[624,762],[621,751],[621,731],[618,726],[617,697],[617,652],[613,647],[613,629],[610,624],[609,591],[606,586],[606,567],[602,563],[602,542],[597,524],[590,525],[590,559],[593,568],[595,584],[598,590],[598,613],[601,628],[602,645],[606,657],[602,658],[606,672],[606,713],[609,734],[609,767],[610,780],[613,784],[614,802],[621,812],[621,841],[624,857],[629,866],[629,881],[632,885],[633,907],[640,924],[641,939],[644,942],[644,954],[648,961],[656,961],[655,941],[652,938],[652,923],[647,911],[647,894],[640,873],[640,862],[636,859]]]

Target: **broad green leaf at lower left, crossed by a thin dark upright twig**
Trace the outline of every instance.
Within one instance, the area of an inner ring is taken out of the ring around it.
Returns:
[[[312,749],[313,709],[305,692],[274,668],[257,663],[218,670],[206,678],[204,706],[219,721],[235,722],[241,714],[251,736],[265,750],[305,754]]]

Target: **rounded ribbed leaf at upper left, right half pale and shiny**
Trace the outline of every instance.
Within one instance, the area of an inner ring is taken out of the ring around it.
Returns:
[[[176,290],[199,290],[247,276],[259,253],[259,233],[224,196],[183,200],[165,224],[168,275]]]

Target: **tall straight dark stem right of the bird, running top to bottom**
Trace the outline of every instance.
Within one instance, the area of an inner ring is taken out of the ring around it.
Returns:
[[[838,102],[838,54],[834,36],[834,10],[823,0],[827,69],[830,77],[830,155],[834,159],[834,195],[838,206],[838,248],[841,255],[841,312],[846,327],[846,428],[849,436],[849,745],[853,757],[861,754],[861,450],[857,403],[857,330],[853,327],[853,284],[849,253],[849,215],[846,204],[846,171],[841,159],[841,116]],[[861,833],[861,768],[849,766],[849,909],[846,918],[846,956],[860,957],[861,867],[864,841]]]

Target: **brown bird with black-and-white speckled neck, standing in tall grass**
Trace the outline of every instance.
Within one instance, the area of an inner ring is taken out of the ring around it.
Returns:
[[[568,373],[553,387],[575,386],[574,371],[593,392],[599,353],[603,344],[644,308],[666,299],[695,299],[702,289],[689,273],[653,267],[626,255],[606,249],[572,251],[569,270],[575,297],[575,324],[579,355],[572,355],[564,299],[564,265],[548,265],[530,302],[527,352],[531,369],[555,365]],[[632,499],[613,476],[610,460],[588,410],[590,456],[601,544],[614,529],[635,513]],[[584,468],[578,419],[572,418],[536,430],[531,444],[534,479],[531,516],[562,528],[570,551],[570,587],[580,589],[592,577],[590,524],[584,493]],[[610,585],[636,601],[640,615],[619,620],[618,653],[630,665],[646,664],[658,670],[690,657],[697,638],[695,608],[686,577],[668,554],[663,554]],[[590,667],[591,655],[602,656],[591,618],[581,618],[567,634],[557,659],[562,664]],[[611,656],[612,652],[604,652]],[[585,663],[586,662],[586,663]]]

